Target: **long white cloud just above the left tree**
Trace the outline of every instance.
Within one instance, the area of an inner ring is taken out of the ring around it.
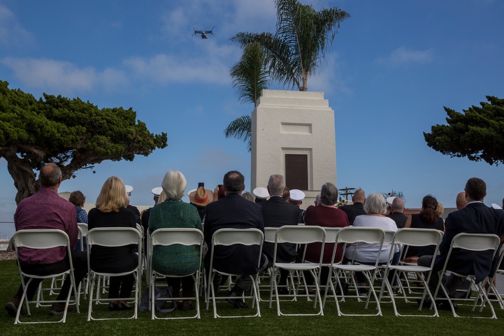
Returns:
[[[61,94],[94,89],[114,89],[127,82],[120,70],[96,71],[91,66],[78,68],[75,64],[55,59],[5,57],[0,63],[11,69],[14,76],[29,86]]]

